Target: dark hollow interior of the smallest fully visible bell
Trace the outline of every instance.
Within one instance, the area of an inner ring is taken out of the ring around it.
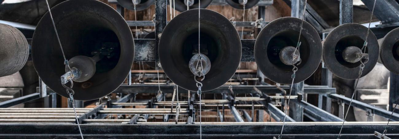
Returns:
[[[363,44],[364,40],[361,39],[359,36],[349,35],[346,37],[342,37],[340,41],[338,41],[337,44],[335,45],[335,58],[343,66],[346,66],[348,68],[356,68],[361,64],[360,61],[356,63],[346,62],[342,57],[342,53],[344,52],[345,48],[349,46],[356,46],[361,49],[363,47]],[[367,48],[366,48],[366,53],[367,53]],[[365,62],[364,59],[363,62]]]

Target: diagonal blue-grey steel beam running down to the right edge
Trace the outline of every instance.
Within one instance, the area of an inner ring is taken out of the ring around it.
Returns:
[[[338,94],[330,94],[328,95],[328,97],[336,99],[336,100],[341,100],[342,102],[344,102],[345,104],[350,103],[351,98],[347,98],[343,95],[338,95]],[[372,112],[374,114],[377,114],[379,116],[385,117],[385,118],[389,118],[392,114],[392,112],[388,111],[388,110],[384,110],[382,108],[377,108],[375,106],[371,106],[370,104],[364,103],[364,102],[360,102],[358,100],[352,100],[352,104],[351,106],[356,107],[356,108],[360,108],[362,110],[372,110]],[[392,114],[392,121],[399,121],[399,114],[397,113],[393,113]]]

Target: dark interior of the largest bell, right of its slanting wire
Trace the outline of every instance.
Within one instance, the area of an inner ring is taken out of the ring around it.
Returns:
[[[67,59],[83,55],[93,57],[93,52],[102,48],[111,49],[96,63],[96,74],[115,68],[120,56],[120,42],[115,27],[107,20],[95,15],[77,13],[65,17],[56,24]],[[65,49],[68,48],[68,49]]]

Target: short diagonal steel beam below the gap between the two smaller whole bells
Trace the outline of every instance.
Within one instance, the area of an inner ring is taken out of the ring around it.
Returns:
[[[344,121],[343,119],[335,116],[334,114],[330,114],[329,112],[326,112],[326,111],[322,110],[321,108],[318,108],[304,100],[292,99],[291,101],[296,104],[299,104],[301,107],[303,107],[307,111],[307,114],[310,114],[311,117],[316,118],[318,121],[322,121],[322,122],[342,122],[342,121]]]

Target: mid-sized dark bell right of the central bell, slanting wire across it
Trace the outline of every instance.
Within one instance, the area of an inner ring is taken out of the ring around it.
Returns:
[[[298,68],[293,83],[304,81],[316,71],[322,57],[320,37],[308,22],[303,29],[298,45],[302,19],[282,17],[267,24],[255,41],[255,61],[258,68],[270,80],[280,84],[291,84],[293,64]],[[298,56],[294,60],[295,56]]]

